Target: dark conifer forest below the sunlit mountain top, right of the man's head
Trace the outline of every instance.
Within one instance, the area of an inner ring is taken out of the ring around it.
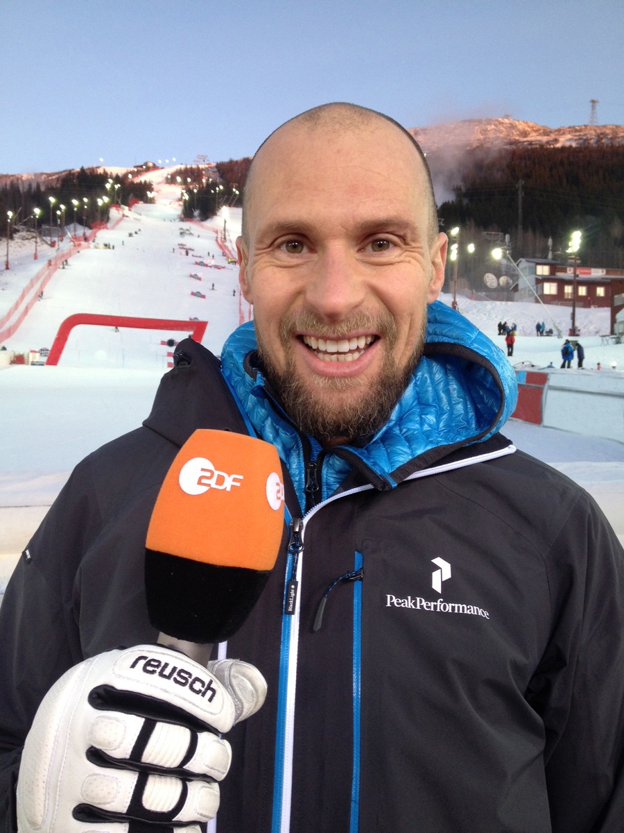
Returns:
[[[447,196],[438,206],[444,231],[458,226],[477,245],[501,232],[516,260],[549,251],[562,260],[578,230],[583,263],[624,267],[624,146],[475,148],[452,164],[435,153],[428,162]]]

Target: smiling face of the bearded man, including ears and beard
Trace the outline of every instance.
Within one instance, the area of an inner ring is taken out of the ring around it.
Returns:
[[[418,361],[446,252],[428,241],[425,182],[381,119],[290,123],[256,157],[240,287],[280,402],[325,445],[377,430]]]

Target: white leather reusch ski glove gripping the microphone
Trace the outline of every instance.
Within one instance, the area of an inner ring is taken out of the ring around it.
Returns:
[[[246,662],[206,668],[162,646],[81,662],[47,692],[28,732],[17,830],[200,833],[230,768],[230,744],[216,733],[254,714],[265,694]]]

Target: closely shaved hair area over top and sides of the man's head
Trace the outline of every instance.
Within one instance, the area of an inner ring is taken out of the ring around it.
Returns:
[[[265,150],[270,147],[275,137],[278,137],[280,133],[285,131],[299,130],[302,137],[301,153],[305,154],[304,141],[306,132],[310,134],[321,132],[326,134],[329,139],[332,136],[348,132],[356,134],[358,132],[364,133],[367,130],[373,129],[375,124],[379,125],[379,122],[388,122],[393,125],[396,128],[399,141],[403,137],[404,141],[409,142],[414,148],[414,177],[419,177],[423,183],[423,199],[427,204],[428,215],[428,242],[433,242],[438,233],[438,215],[435,197],[433,196],[431,174],[429,173],[427,162],[418,142],[416,142],[411,133],[405,130],[399,122],[395,122],[394,118],[390,118],[384,115],[384,113],[370,110],[368,107],[360,107],[357,104],[334,102],[313,107],[311,110],[306,110],[300,113],[300,115],[289,119],[272,132],[258,148],[247,174],[245,190],[243,192],[242,239],[245,246],[249,245],[249,215],[253,210],[258,178],[257,169],[265,154]]]

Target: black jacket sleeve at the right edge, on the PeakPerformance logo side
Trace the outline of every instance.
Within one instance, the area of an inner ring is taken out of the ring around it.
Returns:
[[[582,492],[548,558],[552,634],[527,699],[542,714],[553,833],[624,830],[624,551]]]

